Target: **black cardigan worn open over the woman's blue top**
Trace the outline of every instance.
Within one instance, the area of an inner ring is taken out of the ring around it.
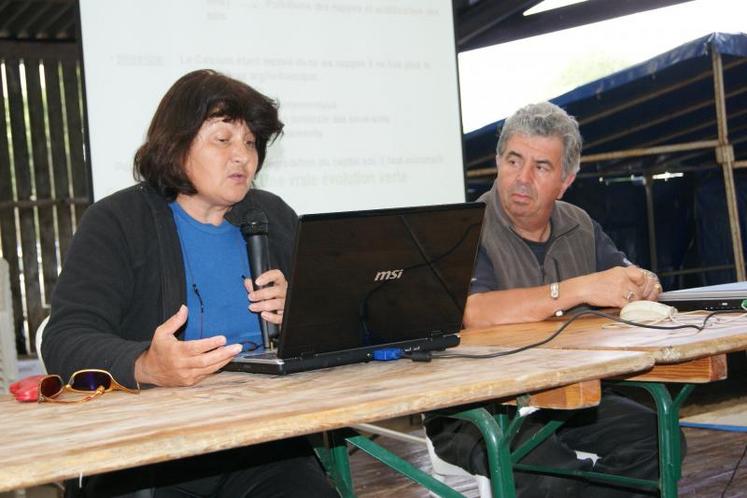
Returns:
[[[226,216],[244,206],[269,221],[272,264],[289,274],[297,217],[278,196],[251,189]],[[168,202],[147,184],[121,190],[88,208],[52,294],[42,356],[67,381],[76,370],[99,368],[135,386],[135,360],[161,323],[185,304],[185,276]]]

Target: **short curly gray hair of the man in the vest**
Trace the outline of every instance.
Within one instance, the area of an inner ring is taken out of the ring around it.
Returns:
[[[506,119],[498,138],[496,151],[501,156],[508,139],[515,134],[540,137],[558,137],[563,142],[563,179],[575,175],[581,161],[581,132],[578,122],[560,107],[550,102],[529,104]]]

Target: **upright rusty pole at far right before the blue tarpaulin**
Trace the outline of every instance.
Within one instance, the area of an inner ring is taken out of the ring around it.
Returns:
[[[743,281],[745,280],[744,253],[742,252],[742,234],[739,229],[739,212],[737,210],[737,195],[734,186],[734,149],[729,145],[721,54],[716,51],[713,45],[711,45],[711,62],[713,64],[714,100],[716,102],[716,123],[718,125],[719,141],[719,146],[716,147],[716,161],[721,164],[724,172],[724,189],[726,191],[726,207],[729,212],[734,267],[736,269],[737,280]]]

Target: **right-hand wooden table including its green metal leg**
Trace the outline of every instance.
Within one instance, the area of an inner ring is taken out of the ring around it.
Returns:
[[[705,313],[699,315],[705,317]],[[719,315],[720,317],[731,315]],[[688,320],[692,320],[692,315]],[[463,331],[462,344],[516,348],[547,338],[563,323],[548,320],[538,323],[502,325]],[[660,478],[663,498],[677,496],[680,477],[679,409],[697,383],[725,379],[726,353],[747,349],[747,324],[664,331],[644,327],[610,328],[604,318],[580,318],[558,337],[540,346],[545,351],[577,349],[640,351],[651,354],[656,366],[643,373],[625,375],[628,385],[648,391],[659,415]],[[683,384],[672,398],[662,383]]]

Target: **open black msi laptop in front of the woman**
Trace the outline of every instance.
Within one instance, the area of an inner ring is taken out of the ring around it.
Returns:
[[[289,374],[459,344],[485,205],[299,218],[277,349],[224,370]],[[272,227],[270,227],[272,229]]]

